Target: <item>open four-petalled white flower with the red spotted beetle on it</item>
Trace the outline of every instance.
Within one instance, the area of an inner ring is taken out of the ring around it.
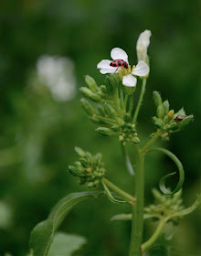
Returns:
[[[111,59],[122,59],[128,63],[128,55],[122,48],[112,48],[111,50]],[[111,67],[112,60],[102,59],[100,63],[97,65],[97,68],[100,69],[100,73],[102,74],[113,74],[116,71],[119,71],[120,77],[122,78],[122,84],[128,87],[136,86],[137,79],[134,76],[145,77],[149,73],[149,67],[143,60],[140,60],[138,64],[132,67],[128,67],[128,69],[124,67]],[[128,63],[129,65],[129,63]]]

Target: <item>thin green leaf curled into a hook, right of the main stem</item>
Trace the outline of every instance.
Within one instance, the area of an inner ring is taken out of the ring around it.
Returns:
[[[159,187],[161,189],[161,191],[164,193],[164,194],[175,194],[176,192],[178,192],[182,186],[183,186],[183,183],[185,181],[185,171],[184,171],[184,167],[182,165],[182,163],[179,161],[179,159],[172,153],[170,152],[169,150],[167,149],[164,149],[164,148],[161,148],[161,147],[155,147],[155,148],[152,148],[150,149],[150,151],[160,151],[162,153],[164,153],[165,155],[169,156],[174,162],[175,162],[175,165],[177,166],[178,168],[178,171],[179,171],[179,181],[174,189],[174,191],[170,191],[168,188],[165,187],[165,181],[167,178],[169,178],[170,176],[175,176],[176,172],[175,173],[171,173],[169,175],[166,175],[164,176],[160,182],[159,182]]]

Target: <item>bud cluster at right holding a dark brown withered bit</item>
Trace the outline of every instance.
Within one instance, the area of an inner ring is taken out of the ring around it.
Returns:
[[[169,102],[163,102],[158,91],[153,91],[153,101],[157,108],[156,116],[153,116],[153,123],[163,132],[161,136],[164,140],[169,140],[170,133],[184,130],[185,127],[194,120],[192,114],[185,115],[184,109],[181,109],[179,112],[170,110]]]

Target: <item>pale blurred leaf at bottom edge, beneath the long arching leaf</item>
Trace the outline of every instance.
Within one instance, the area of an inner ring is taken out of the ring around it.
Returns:
[[[57,232],[48,251],[48,256],[71,256],[86,242],[87,240],[81,236]]]

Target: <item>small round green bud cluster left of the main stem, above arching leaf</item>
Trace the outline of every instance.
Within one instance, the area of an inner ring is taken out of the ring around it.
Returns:
[[[106,172],[101,154],[91,155],[90,152],[85,152],[79,147],[75,147],[75,151],[79,155],[79,161],[69,165],[69,173],[79,176],[80,185],[87,182],[88,187],[97,187]]]

